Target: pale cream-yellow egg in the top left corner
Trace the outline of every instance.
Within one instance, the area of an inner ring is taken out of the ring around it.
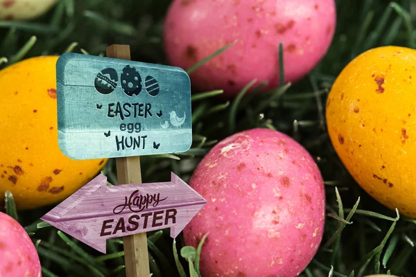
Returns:
[[[27,20],[43,15],[57,0],[0,0],[0,20]]]

